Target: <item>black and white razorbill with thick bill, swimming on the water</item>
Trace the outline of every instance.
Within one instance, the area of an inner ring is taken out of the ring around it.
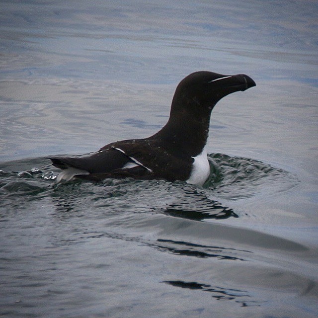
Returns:
[[[202,184],[207,176],[200,173],[206,174],[207,159],[195,162],[195,158],[202,155],[206,145],[213,107],[224,96],[255,85],[246,75],[192,73],[178,84],[169,120],[155,135],[114,142],[86,157],[49,158],[56,167],[71,171],[62,172],[59,179],[133,177]]]

